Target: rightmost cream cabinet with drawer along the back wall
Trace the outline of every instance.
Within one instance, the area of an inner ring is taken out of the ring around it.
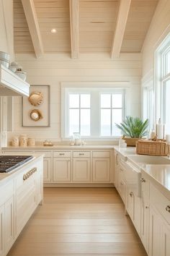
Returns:
[[[92,182],[110,181],[109,151],[93,151],[92,153]]]

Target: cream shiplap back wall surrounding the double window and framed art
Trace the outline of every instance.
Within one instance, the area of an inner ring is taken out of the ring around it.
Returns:
[[[127,114],[140,116],[141,55],[121,54],[112,61],[107,54],[81,54],[73,60],[66,54],[18,54],[16,59],[27,71],[31,85],[50,85],[50,127],[22,127],[22,98],[14,97],[14,135],[27,134],[37,140],[61,140],[61,82],[129,81]]]

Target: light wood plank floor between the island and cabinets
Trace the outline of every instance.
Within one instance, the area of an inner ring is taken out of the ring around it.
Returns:
[[[146,256],[146,252],[115,189],[45,188],[44,205],[8,254],[19,255]]]

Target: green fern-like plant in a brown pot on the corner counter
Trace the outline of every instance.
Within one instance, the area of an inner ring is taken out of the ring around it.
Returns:
[[[128,146],[135,146],[139,138],[148,134],[148,119],[143,121],[138,117],[126,116],[125,120],[116,126],[122,131],[122,138]]]

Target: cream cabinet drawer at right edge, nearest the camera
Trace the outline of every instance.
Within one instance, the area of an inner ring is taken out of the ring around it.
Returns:
[[[170,200],[150,184],[151,204],[161,213],[166,221],[170,224]]]

